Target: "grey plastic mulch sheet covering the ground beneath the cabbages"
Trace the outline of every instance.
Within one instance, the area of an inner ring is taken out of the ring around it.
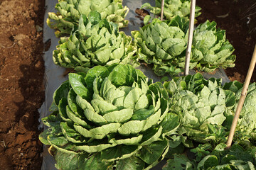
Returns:
[[[135,13],[136,8],[140,8],[142,4],[149,2],[152,6],[154,6],[154,0],[123,0],[123,6],[127,6],[129,8],[129,13],[127,14],[126,19],[129,21],[128,28],[122,28],[121,30],[124,31],[127,35],[131,35],[132,30],[139,30],[139,26],[142,26],[143,23],[142,20],[137,18],[137,14]],[[46,19],[48,18],[48,12],[55,11],[55,4],[58,3],[58,0],[46,0],[46,13],[45,13],[45,20],[44,20],[44,26],[43,26],[43,41],[47,42],[50,40],[51,45],[48,51],[44,52],[43,59],[45,61],[45,84],[46,84],[46,101],[43,103],[41,108],[39,109],[40,113],[40,121],[41,118],[46,117],[50,114],[49,108],[51,106],[51,103],[53,102],[53,92],[55,89],[60,86],[60,84],[63,83],[63,81],[68,79],[68,76],[65,75],[65,68],[59,67],[53,63],[53,50],[55,50],[56,45],[58,45],[58,38],[54,35],[54,30],[50,29],[46,25]],[[149,68],[145,66],[140,66],[138,69],[142,70],[144,74],[153,79],[154,81],[160,81],[161,77],[157,77],[156,74]],[[190,74],[195,74],[196,72],[191,70],[189,72]],[[209,79],[210,77],[215,78],[222,78],[223,83],[228,82],[228,77],[226,76],[223,69],[218,69],[215,74],[203,74],[203,76],[206,79]],[[41,123],[39,128],[46,128],[43,126],[43,123]],[[48,154],[47,147],[44,146],[43,151],[43,164],[42,164],[42,170],[54,170],[55,169],[55,161],[50,154]],[[161,169],[161,166],[163,166],[164,162],[161,162],[158,166],[155,166],[153,169]]]

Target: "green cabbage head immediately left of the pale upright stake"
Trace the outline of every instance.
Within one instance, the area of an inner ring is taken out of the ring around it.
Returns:
[[[153,70],[158,76],[166,72],[171,75],[181,72],[177,62],[186,50],[187,30],[188,21],[176,16],[171,21],[154,19],[140,30],[133,31],[139,59],[154,64]]]

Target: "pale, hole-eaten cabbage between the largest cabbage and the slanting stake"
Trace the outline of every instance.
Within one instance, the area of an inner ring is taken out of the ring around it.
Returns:
[[[225,113],[235,105],[235,94],[221,88],[221,79],[199,73],[166,81],[170,111],[180,116],[181,133],[198,142],[225,142]]]

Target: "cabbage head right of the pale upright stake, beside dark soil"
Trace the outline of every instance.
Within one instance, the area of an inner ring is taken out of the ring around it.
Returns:
[[[233,45],[226,40],[225,30],[216,28],[215,21],[200,24],[193,35],[193,62],[201,71],[213,72],[218,67],[235,67]],[[185,60],[185,58],[183,58]]]

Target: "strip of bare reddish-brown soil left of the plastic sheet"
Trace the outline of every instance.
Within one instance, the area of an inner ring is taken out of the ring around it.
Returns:
[[[41,169],[43,0],[0,0],[0,167]]]

